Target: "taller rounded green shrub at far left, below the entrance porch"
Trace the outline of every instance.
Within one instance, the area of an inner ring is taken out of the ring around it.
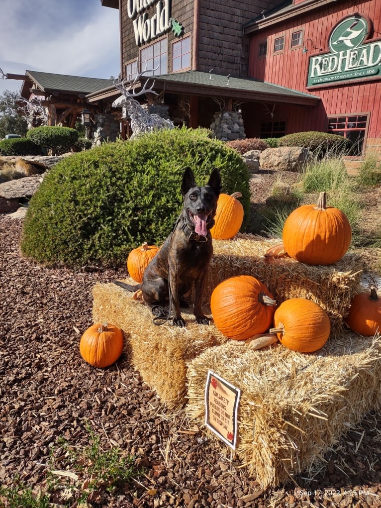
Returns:
[[[30,129],[26,137],[47,148],[51,155],[69,152],[78,141],[78,131],[69,127],[42,126]]]

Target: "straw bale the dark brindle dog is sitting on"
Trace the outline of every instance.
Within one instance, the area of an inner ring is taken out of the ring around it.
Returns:
[[[182,312],[186,328],[172,326],[171,320],[156,326],[149,308],[115,284],[97,283],[92,295],[94,322],[123,330],[131,364],[170,407],[186,402],[186,362],[228,340],[214,326],[198,325],[190,309]]]

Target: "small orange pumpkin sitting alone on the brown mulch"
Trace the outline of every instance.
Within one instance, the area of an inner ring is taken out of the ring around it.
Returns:
[[[82,358],[94,367],[108,367],[123,351],[123,334],[114,325],[96,323],[83,333],[79,350]]]

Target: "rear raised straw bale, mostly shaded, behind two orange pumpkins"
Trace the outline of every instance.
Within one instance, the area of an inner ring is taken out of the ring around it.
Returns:
[[[213,288],[234,275],[252,275],[267,285],[276,302],[308,298],[323,307],[331,320],[331,333],[340,333],[343,316],[352,297],[360,292],[362,264],[347,253],[329,266],[310,266],[291,258],[265,258],[265,252],[279,240],[238,234],[232,240],[213,240],[213,259],[208,271],[204,301]]]

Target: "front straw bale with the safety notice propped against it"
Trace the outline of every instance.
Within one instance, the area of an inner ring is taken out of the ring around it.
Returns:
[[[241,390],[236,453],[262,488],[306,470],[366,412],[381,407],[380,336],[342,334],[315,354],[280,344],[250,351],[230,341],[187,366],[185,410],[198,425],[205,420],[208,369]]]

